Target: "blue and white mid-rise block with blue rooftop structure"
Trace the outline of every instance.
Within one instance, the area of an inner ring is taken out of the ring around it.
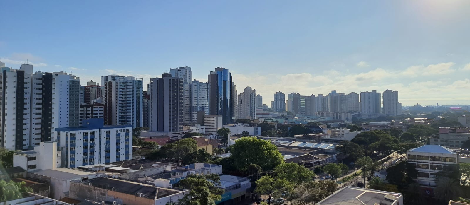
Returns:
[[[79,127],[55,128],[62,166],[75,168],[132,159],[133,125],[104,125],[103,118],[84,119]]]

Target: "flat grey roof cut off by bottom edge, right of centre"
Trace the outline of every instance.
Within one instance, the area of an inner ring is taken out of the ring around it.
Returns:
[[[336,191],[318,205],[397,205],[402,194],[352,186]]]

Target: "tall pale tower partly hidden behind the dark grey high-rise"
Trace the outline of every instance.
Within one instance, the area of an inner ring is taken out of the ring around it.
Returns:
[[[183,118],[184,123],[192,122],[191,113],[191,83],[193,81],[193,72],[188,66],[171,68],[170,74],[175,78],[183,79]]]

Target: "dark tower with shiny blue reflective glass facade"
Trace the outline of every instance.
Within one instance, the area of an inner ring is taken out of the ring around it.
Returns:
[[[232,73],[228,69],[217,67],[208,76],[209,114],[222,115],[222,123],[232,121],[233,110],[233,83]]]

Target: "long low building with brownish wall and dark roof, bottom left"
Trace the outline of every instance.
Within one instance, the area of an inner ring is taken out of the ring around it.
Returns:
[[[188,190],[99,177],[72,181],[69,195],[77,200],[112,201],[122,205],[166,205],[178,201],[187,193]]]

